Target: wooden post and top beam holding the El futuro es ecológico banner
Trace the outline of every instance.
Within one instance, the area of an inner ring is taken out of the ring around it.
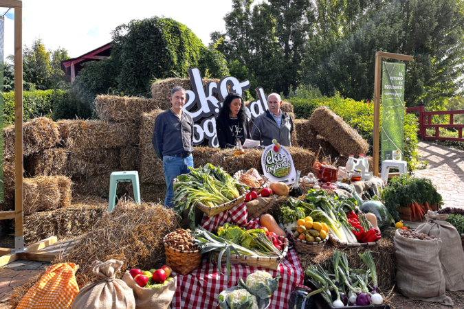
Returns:
[[[382,95],[382,58],[412,61],[414,57],[386,52],[375,53],[373,174],[379,176],[380,95]]]

